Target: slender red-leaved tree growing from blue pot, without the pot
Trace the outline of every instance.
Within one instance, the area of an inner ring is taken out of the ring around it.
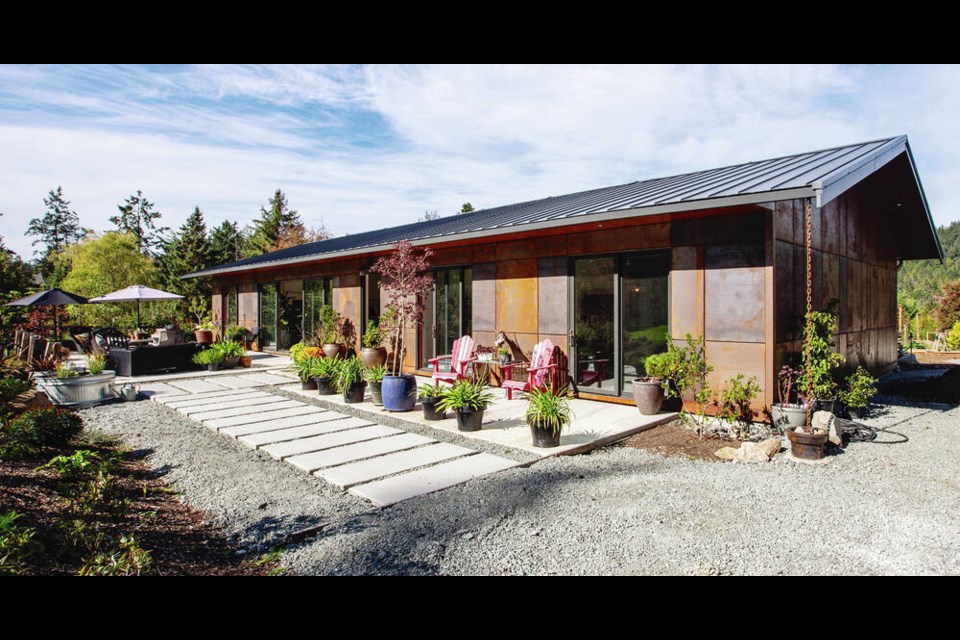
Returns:
[[[403,330],[417,326],[423,320],[423,296],[433,288],[433,278],[428,273],[433,251],[416,251],[409,241],[399,242],[393,253],[377,260],[371,271],[383,278],[380,288],[387,294],[390,305],[396,309],[387,326],[390,345],[393,347],[391,373],[400,375],[403,369]]]

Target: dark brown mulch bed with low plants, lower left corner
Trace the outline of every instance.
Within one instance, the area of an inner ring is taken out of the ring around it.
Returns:
[[[184,505],[175,490],[119,445],[85,444],[76,448],[122,452],[113,475],[118,496],[127,507],[121,513],[98,514],[94,526],[108,540],[135,536],[151,555],[152,574],[266,575],[277,571],[275,562],[258,566],[255,558],[237,556],[224,532],[209,524],[204,513]],[[82,566],[84,553],[67,546],[59,526],[67,504],[58,493],[63,485],[55,474],[35,470],[58,453],[69,455],[73,450],[50,450],[40,460],[0,461],[0,514],[21,514],[16,524],[35,528],[36,539],[43,544],[43,552],[30,559],[28,574],[75,575]]]

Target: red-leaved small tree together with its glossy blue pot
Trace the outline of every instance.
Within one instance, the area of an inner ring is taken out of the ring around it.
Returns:
[[[433,289],[433,278],[427,272],[430,255],[430,249],[417,252],[410,242],[403,241],[371,268],[383,276],[380,286],[394,310],[389,319],[380,318],[381,327],[388,323],[387,336],[393,349],[382,385],[383,408],[387,411],[410,411],[417,402],[417,381],[403,373],[403,333],[408,325],[416,327],[420,323],[423,299]]]

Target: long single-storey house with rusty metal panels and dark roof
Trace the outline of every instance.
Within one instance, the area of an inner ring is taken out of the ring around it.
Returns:
[[[583,397],[617,401],[667,335],[703,336],[714,382],[756,376],[766,404],[799,349],[806,308],[839,302],[839,348],[874,372],[896,365],[897,267],[941,258],[907,138],[631,182],[276,251],[210,277],[222,323],[258,327],[264,349],[312,334],[320,305],[356,327],[384,301],[370,266],[399,240],[435,251],[426,320],[408,370],[471,334],[529,352],[550,338]]]

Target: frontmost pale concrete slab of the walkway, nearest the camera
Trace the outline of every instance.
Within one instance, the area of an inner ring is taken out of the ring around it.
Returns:
[[[366,498],[380,507],[388,507],[403,500],[422,496],[434,491],[462,484],[490,473],[503,471],[518,463],[488,453],[443,462],[419,471],[360,484],[350,488],[350,493]]]

